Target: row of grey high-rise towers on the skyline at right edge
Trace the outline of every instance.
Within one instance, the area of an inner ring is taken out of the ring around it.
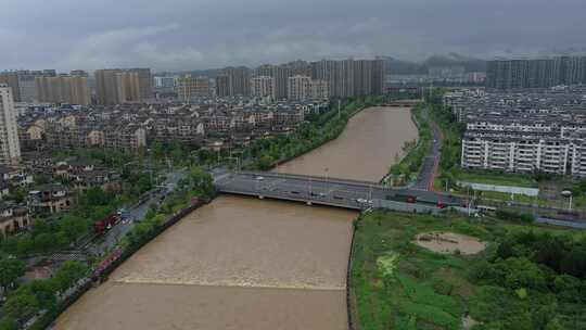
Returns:
[[[494,60],[486,63],[486,87],[545,88],[586,84],[586,56]]]

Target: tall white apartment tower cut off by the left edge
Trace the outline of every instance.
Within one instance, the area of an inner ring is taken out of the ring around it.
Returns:
[[[12,88],[0,84],[0,164],[16,165],[21,160],[21,144]]]

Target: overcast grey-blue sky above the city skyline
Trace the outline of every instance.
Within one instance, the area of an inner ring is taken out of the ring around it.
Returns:
[[[586,47],[586,0],[0,0],[0,69],[203,69]]]

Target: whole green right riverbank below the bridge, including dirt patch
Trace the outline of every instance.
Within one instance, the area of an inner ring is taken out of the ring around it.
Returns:
[[[523,236],[535,242],[566,242],[560,251],[576,249],[573,244],[583,238],[574,230],[489,218],[477,223],[454,214],[437,218],[375,211],[362,216],[348,283],[355,291],[354,329],[471,329],[471,325],[540,329],[552,322],[583,329],[585,319],[577,317],[582,303],[572,297],[576,295],[566,296],[561,292],[568,289],[546,284],[568,275],[536,258],[535,253],[543,252],[537,244],[521,246]],[[515,240],[513,251],[504,245]],[[468,243],[474,241],[486,249],[479,252],[476,243]],[[446,249],[449,245],[456,248]],[[543,267],[553,268],[546,276]],[[501,274],[492,272],[496,268]]]

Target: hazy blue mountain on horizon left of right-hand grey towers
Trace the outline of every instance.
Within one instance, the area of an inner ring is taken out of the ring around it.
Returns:
[[[393,58],[387,58],[386,71],[394,75],[424,75],[429,73],[430,67],[449,67],[463,66],[467,72],[485,72],[486,61],[464,56],[457,53],[447,55],[433,55],[423,63],[403,61]]]

